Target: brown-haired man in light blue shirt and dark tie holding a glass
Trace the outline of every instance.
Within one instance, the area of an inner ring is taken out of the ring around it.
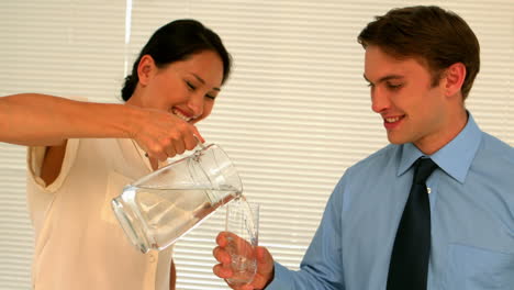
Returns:
[[[452,12],[410,7],[378,16],[358,41],[391,144],[346,170],[299,271],[258,247],[254,281],[231,287],[513,289],[514,149],[466,110],[476,35]],[[227,235],[213,252],[221,278],[233,275]]]

